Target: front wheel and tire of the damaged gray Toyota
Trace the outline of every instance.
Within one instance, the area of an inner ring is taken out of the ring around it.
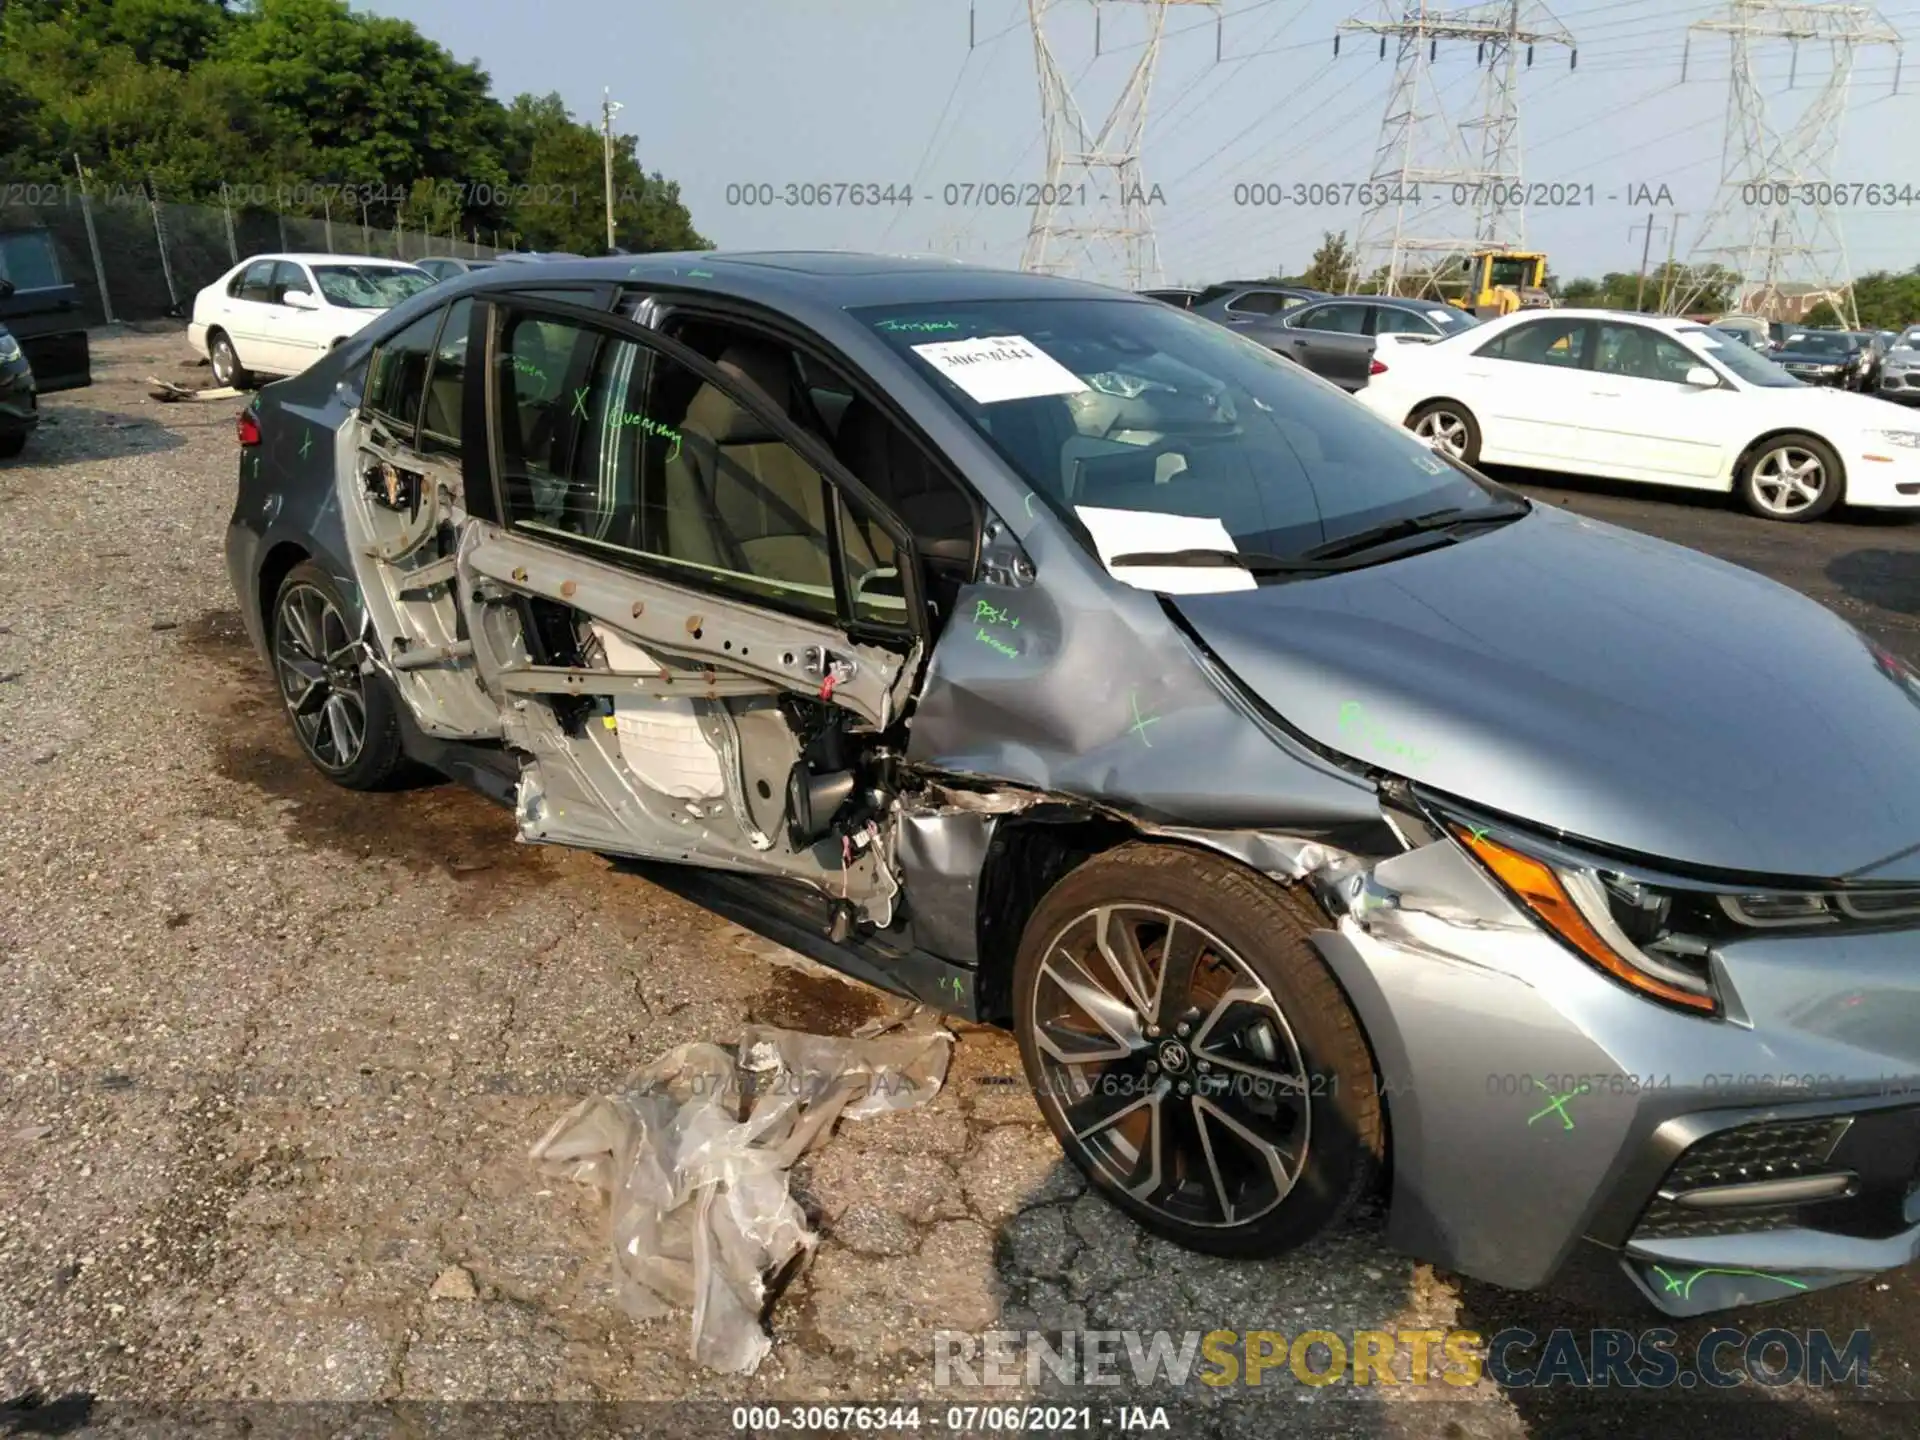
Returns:
[[[1154,912],[1173,922],[1158,941],[1150,924],[1137,924]],[[1110,966],[1094,970],[1106,964],[1092,948],[1102,924],[1112,950],[1139,956],[1137,973],[1160,1000],[1152,1012],[1158,1023],[1142,1020],[1142,1006],[1129,1000],[1119,1000],[1127,1020],[1116,1021],[1119,1012],[1106,1004],[1114,993],[1098,998],[1085,989],[1089,979],[1104,991],[1119,977]],[[1179,1246],[1215,1256],[1281,1254],[1334,1225],[1380,1171],[1386,1131],[1373,1056],[1346,995],[1308,941],[1323,927],[1327,918],[1306,893],[1165,845],[1125,845],[1089,860],[1027,922],[1014,964],[1014,1027],[1041,1112],[1094,1188]],[[1175,933],[1175,952],[1187,956],[1175,970],[1190,973],[1187,987],[1177,979],[1169,985],[1164,968],[1156,970]],[[1079,956],[1087,956],[1085,968]],[[1085,1025],[1073,1023],[1077,996],[1096,998],[1106,1023],[1092,1021],[1092,1010],[1079,1010]],[[1277,1027],[1271,1016],[1279,1016]],[[1108,1029],[1112,1023],[1127,1039]],[[1098,1054],[1100,1046],[1129,1050],[1129,1058],[1098,1071],[1098,1062],[1058,1058],[1062,1050]],[[1288,1079],[1261,1089],[1261,1075]],[[1212,1117],[1221,1106],[1227,1117]],[[1281,1140],[1283,1133],[1298,1133],[1298,1140]],[[1273,1137],[1267,1154],[1258,1148],[1263,1137]],[[1148,1150],[1162,1162],[1137,1185]],[[1286,1152],[1294,1164],[1283,1185]],[[1275,1169],[1273,1162],[1283,1164]]]

